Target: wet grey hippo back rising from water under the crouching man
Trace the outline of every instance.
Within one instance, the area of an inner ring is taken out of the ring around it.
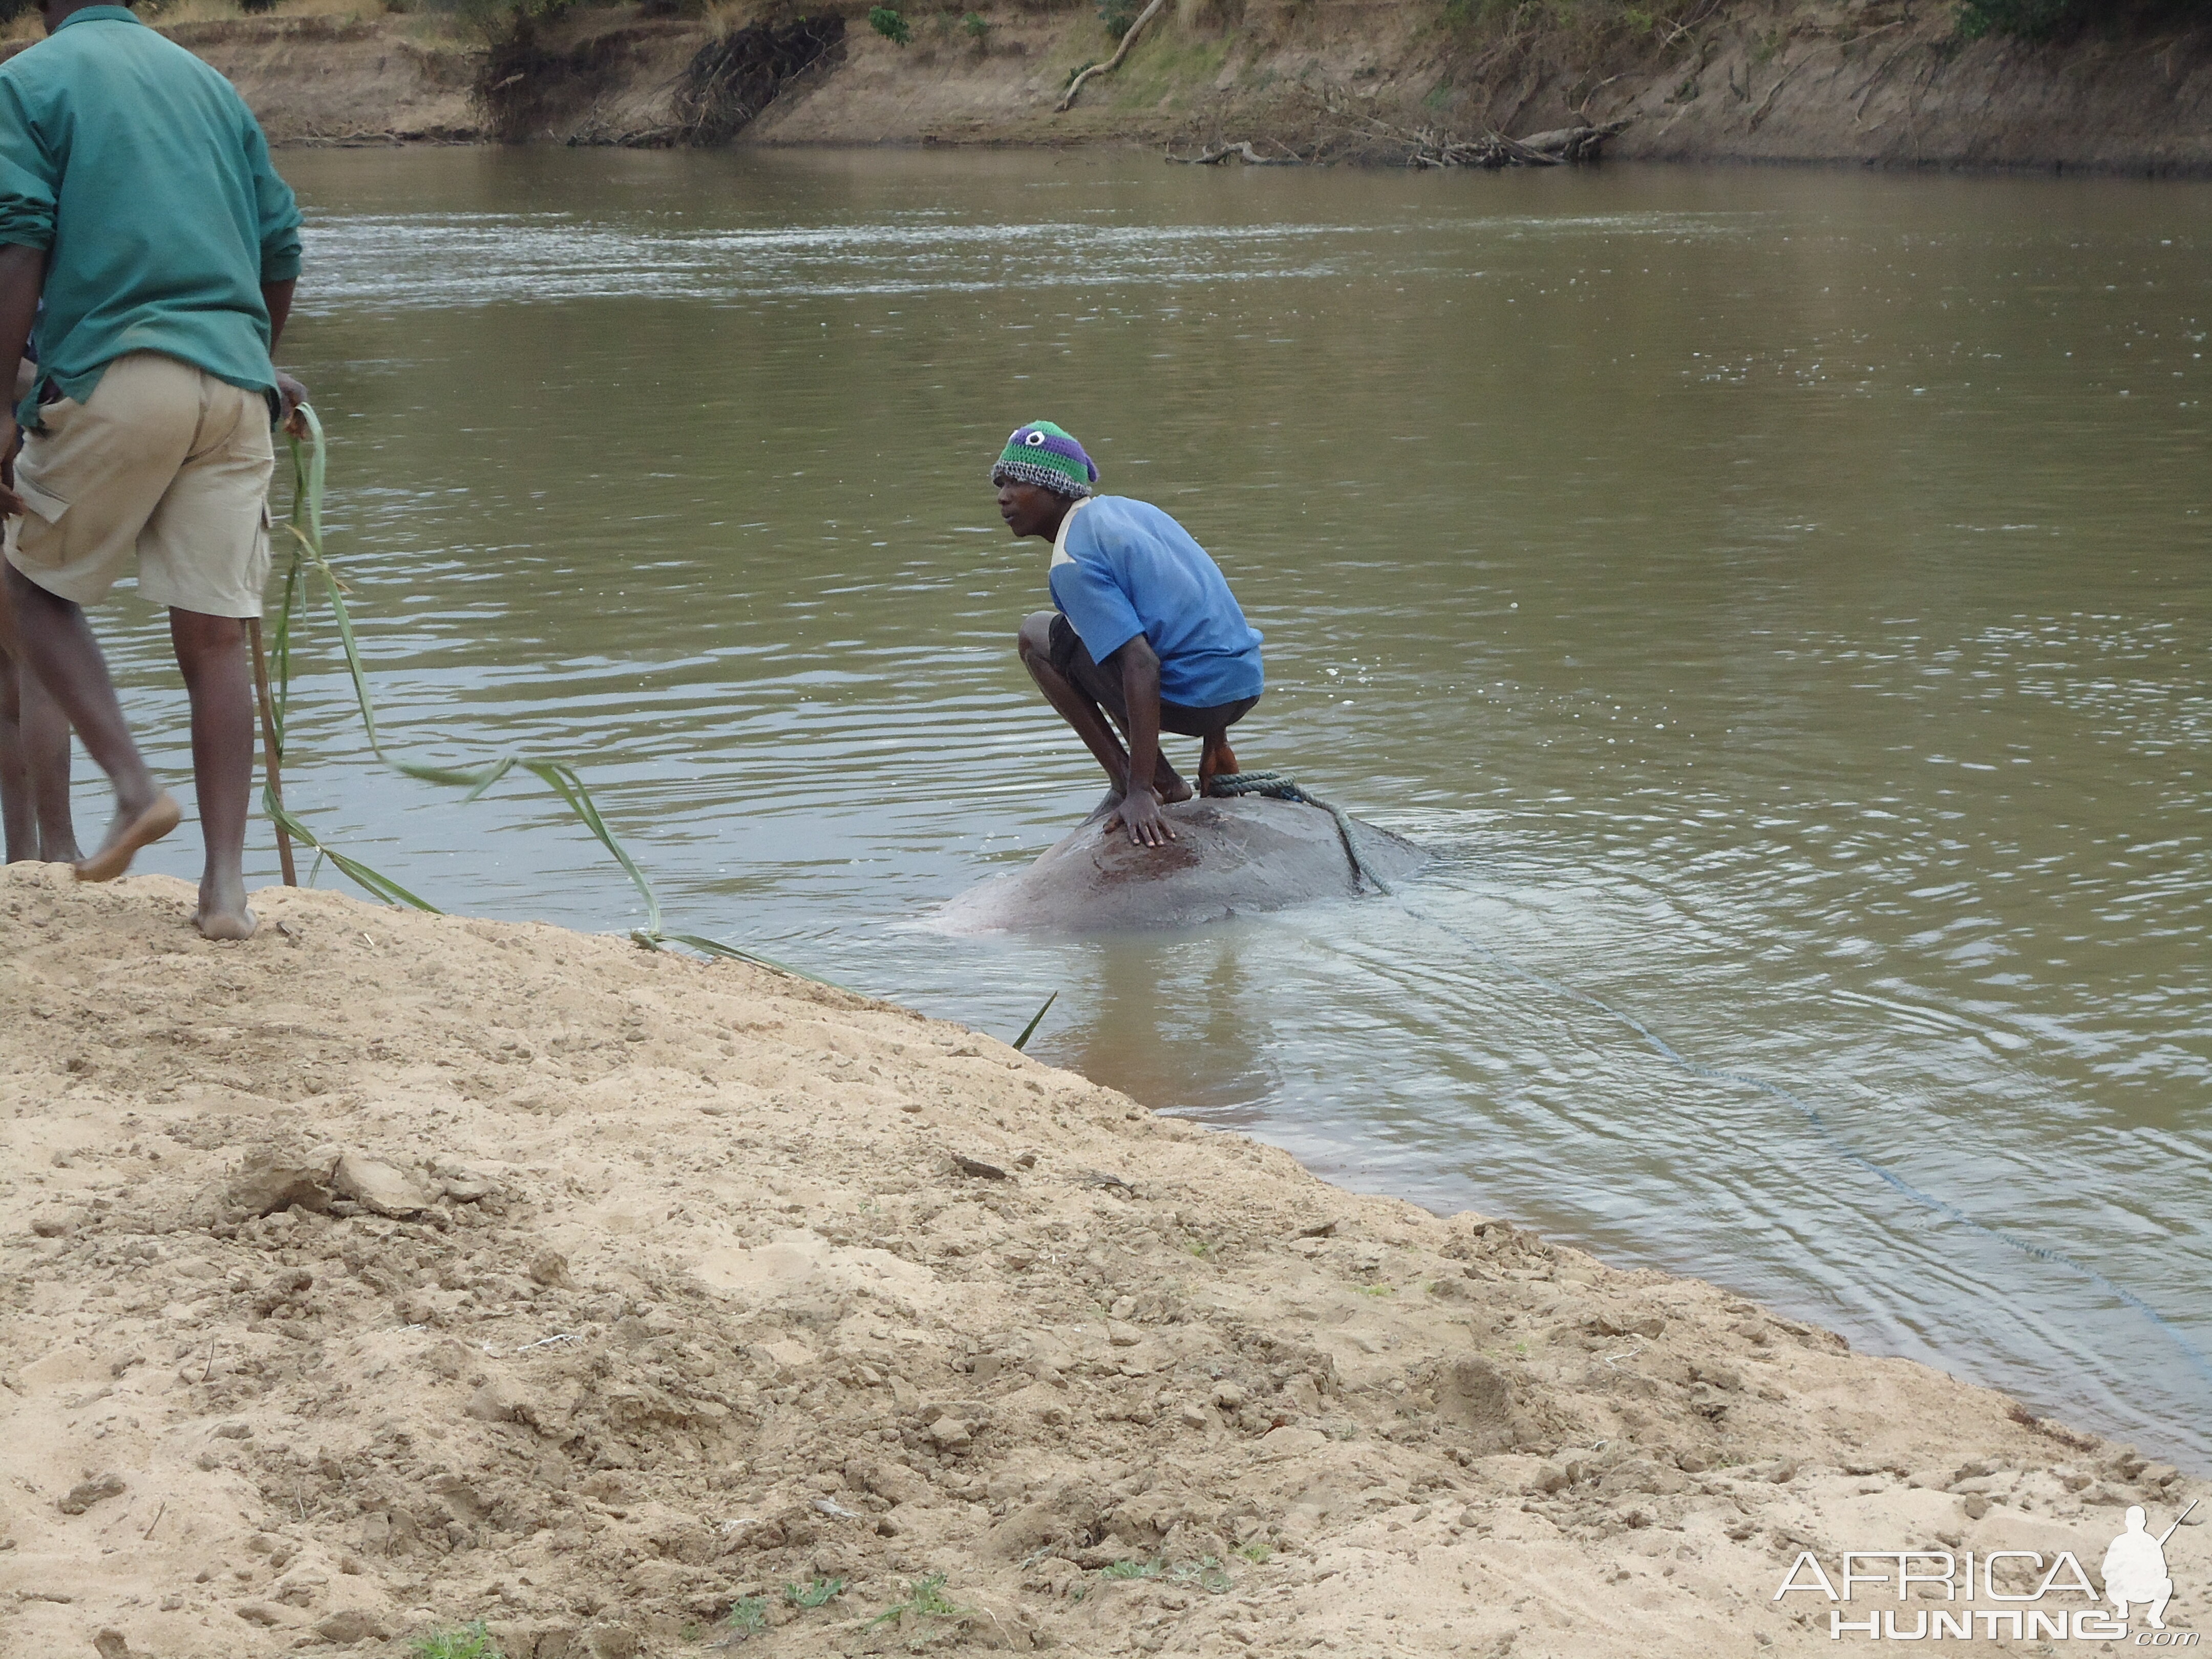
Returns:
[[[1106,933],[1194,927],[1228,916],[1352,898],[1358,880],[1336,821],[1321,807],[1243,796],[1166,810],[1175,841],[1130,845],[1088,818],[1011,876],[993,876],[938,914],[951,933]],[[1396,883],[1427,854],[1354,821],[1360,856]]]

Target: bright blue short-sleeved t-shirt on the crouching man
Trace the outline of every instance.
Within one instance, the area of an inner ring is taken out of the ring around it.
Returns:
[[[1053,604],[1106,661],[1137,635],[1159,657],[1159,699],[1214,708],[1259,697],[1261,633],[1243,619],[1221,566],[1150,502],[1079,500],[1053,542]]]

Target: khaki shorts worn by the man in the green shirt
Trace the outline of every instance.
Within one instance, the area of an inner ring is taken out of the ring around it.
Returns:
[[[139,593],[206,617],[259,617],[270,573],[270,405],[159,352],[108,363],[86,403],[24,438],[7,560],[93,604],[137,557]]]

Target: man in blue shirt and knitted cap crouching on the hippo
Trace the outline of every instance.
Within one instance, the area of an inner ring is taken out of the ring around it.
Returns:
[[[1150,502],[1093,495],[1099,469],[1051,420],[1015,429],[991,467],[998,515],[1053,544],[1055,611],[1022,624],[1018,646],[1037,690],[1106,768],[1106,827],[1144,847],[1175,841],[1161,814],[1190,785],[1159,734],[1197,737],[1199,792],[1237,770],[1228,730],[1265,684],[1261,635],[1190,531]],[[1113,726],[1128,734],[1128,748]]]

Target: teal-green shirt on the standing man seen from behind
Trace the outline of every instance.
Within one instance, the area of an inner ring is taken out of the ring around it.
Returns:
[[[128,9],[0,64],[0,243],[46,250],[38,363],[62,396],[126,352],[274,389],[261,283],[299,276],[299,204],[246,100]]]

